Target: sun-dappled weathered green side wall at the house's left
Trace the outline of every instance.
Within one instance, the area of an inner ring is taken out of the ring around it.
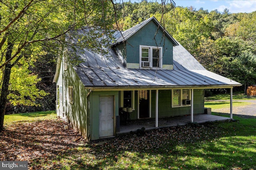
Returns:
[[[76,74],[72,66],[64,71],[64,84],[66,94],[66,119],[84,137],[88,137],[88,98],[89,90],[85,90],[84,85]],[[73,104],[69,102],[68,86],[73,86]]]

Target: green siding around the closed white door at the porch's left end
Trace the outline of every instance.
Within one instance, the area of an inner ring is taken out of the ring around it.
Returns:
[[[119,92],[118,91],[99,91],[90,93],[90,139],[100,139],[100,96],[114,96],[114,115],[118,116]],[[114,125],[116,125],[114,116]]]

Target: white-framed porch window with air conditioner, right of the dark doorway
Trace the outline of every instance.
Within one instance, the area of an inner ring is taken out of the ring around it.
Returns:
[[[191,106],[189,89],[172,90],[172,107]]]

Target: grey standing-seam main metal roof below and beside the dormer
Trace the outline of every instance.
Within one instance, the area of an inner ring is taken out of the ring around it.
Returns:
[[[225,87],[241,85],[206,70],[180,44],[173,47],[173,70],[126,68],[114,49],[108,49],[109,53],[106,55],[98,54],[90,49],[78,51],[76,55],[83,59],[83,62],[74,69],[87,88]]]

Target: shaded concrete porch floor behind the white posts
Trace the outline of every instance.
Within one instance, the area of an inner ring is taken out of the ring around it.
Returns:
[[[194,123],[205,123],[208,121],[226,121],[226,120],[230,120],[230,117],[222,117],[222,116],[208,115],[208,114],[194,115]],[[161,127],[186,125],[190,122],[191,122],[190,115],[159,118],[158,127],[155,127],[155,118],[130,120],[130,121],[127,121],[125,125],[120,125],[120,131],[117,132],[117,134],[130,133],[131,131],[137,131],[137,129],[141,129],[142,127],[145,127],[146,130],[151,130],[151,129],[157,129]]]

